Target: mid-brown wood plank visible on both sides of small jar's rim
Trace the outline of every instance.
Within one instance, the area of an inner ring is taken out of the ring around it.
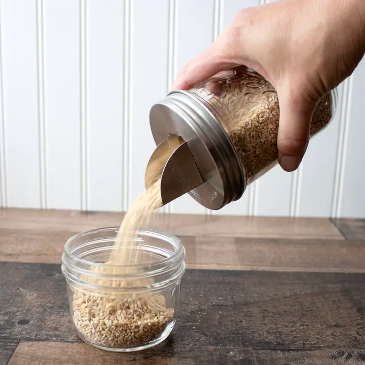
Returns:
[[[61,263],[70,231],[0,230],[0,261]],[[365,241],[180,236],[189,269],[365,272]]]

